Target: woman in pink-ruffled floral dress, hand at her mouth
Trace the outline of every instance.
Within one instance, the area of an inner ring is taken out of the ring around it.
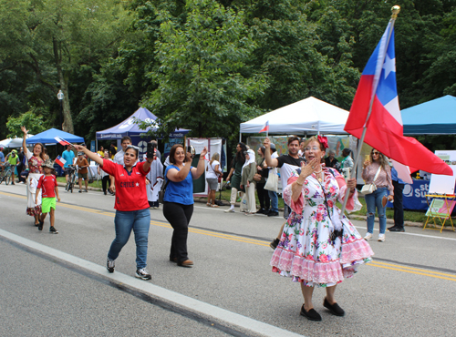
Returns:
[[[370,261],[374,254],[351,222],[345,216],[340,219],[336,201],[342,201],[346,192],[347,210],[360,209],[356,179],[346,183],[337,170],[321,165],[325,148],[324,137],[306,141],[307,164],[292,173],[284,189],[284,200],[292,213],[271,259],[273,271],[301,282],[301,315],[311,321],[321,321],[312,302],[314,287],[325,287],[324,306],[343,316],[345,311],[334,297],[337,283],[353,276],[358,265]]]

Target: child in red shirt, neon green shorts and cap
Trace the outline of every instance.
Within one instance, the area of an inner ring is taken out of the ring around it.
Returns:
[[[43,230],[43,223],[46,219],[47,213],[50,213],[51,218],[51,227],[49,228],[49,232],[52,234],[58,234],[58,231],[54,227],[55,215],[54,212],[56,210],[56,195],[57,200],[60,202],[60,197],[58,196],[58,188],[57,188],[57,179],[52,174],[54,173],[54,163],[52,160],[47,159],[42,165],[45,175],[41,176],[38,180],[38,186],[36,187],[36,196],[39,194],[39,190],[43,189],[41,193],[41,216],[39,218],[38,223],[38,230]],[[37,197],[36,197],[37,198]],[[37,200],[36,200],[37,201]]]

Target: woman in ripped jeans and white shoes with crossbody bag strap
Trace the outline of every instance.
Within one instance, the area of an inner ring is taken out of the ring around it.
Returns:
[[[366,206],[368,207],[368,233],[364,239],[372,239],[375,209],[377,208],[380,227],[378,241],[383,242],[385,241],[385,230],[387,229],[386,199],[388,198],[389,201],[392,201],[394,191],[391,180],[391,168],[389,168],[387,158],[375,148],[372,148],[370,151],[368,160],[364,161],[362,178],[366,181],[366,184],[375,184],[377,187],[373,193],[364,196]]]

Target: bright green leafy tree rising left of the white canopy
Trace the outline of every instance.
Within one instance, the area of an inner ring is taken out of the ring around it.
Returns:
[[[143,104],[160,117],[165,135],[191,128],[198,137],[232,137],[260,111],[248,101],[264,93],[264,77],[243,74],[256,44],[243,12],[210,0],[188,1],[185,11],[183,23],[160,13],[159,64],[147,74],[158,87]]]

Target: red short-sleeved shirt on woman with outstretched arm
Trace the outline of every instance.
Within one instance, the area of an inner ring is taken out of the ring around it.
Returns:
[[[146,175],[150,169],[144,171],[144,163],[137,163],[131,172],[122,165],[103,159],[103,170],[116,179],[116,202],[114,209],[130,211],[149,209],[146,192]]]

